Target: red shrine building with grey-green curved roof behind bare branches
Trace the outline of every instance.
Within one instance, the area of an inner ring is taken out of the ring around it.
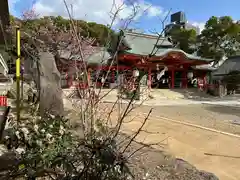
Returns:
[[[108,84],[114,84],[119,73],[137,69],[148,74],[149,88],[190,88],[193,87],[193,79],[198,88],[209,84],[213,59],[175,48],[168,38],[121,31],[110,44],[110,48],[98,48],[98,51],[86,58],[87,78],[94,79],[94,74],[99,70],[110,69]],[[76,61],[73,63],[70,58],[62,59],[57,66],[62,74],[66,74]],[[72,78],[72,75],[68,76],[68,86],[72,85]]]

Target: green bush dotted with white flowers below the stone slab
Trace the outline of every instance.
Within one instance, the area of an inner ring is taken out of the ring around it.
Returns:
[[[18,126],[12,124],[12,135],[8,137],[11,148],[22,148],[19,163],[11,173],[22,173],[27,177],[42,176],[44,169],[52,168],[59,162],[59,157],[67,156],[72,152],[74,140],[69,132],[66,121],[60,117],[49,116],[22,121]],[[61,159],[61,164],[65,164]]]

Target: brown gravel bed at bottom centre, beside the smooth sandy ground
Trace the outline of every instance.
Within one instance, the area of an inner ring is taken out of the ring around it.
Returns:
[[[133,142],[126,154],[142,146]],[[129,159],[129,167],[136,180],[218,180],[212,173],[200,171],[183,159],[148,146]]]

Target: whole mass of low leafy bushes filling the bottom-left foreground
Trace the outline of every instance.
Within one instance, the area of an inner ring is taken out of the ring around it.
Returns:
[[[35,179],[127,179],[130,171],[114,138],[106,136],[100,121],[99,131],[83,139],[71,132],[69,121],[48,115],[29,116],[16,123],[5,145],[16,152],[18,163],[5,178]]]

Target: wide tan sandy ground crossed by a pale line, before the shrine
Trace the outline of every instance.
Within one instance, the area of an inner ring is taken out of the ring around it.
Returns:
[[[131,117],[125,119],[123,131],[129,135],[136,132],[150,108],[142,106],[133,111]],[[136,114],[138,116],[132,119]],[[145,131],[137,137],[139,142],[161,142],[162,147],[156,146],[156,149],[171,152],[200,170],[214,173],[220,180],[239,180],[240,138],[173,123],[161,117],[240,134],[240,126],[230,123],[239,119],[240,108],[216,105],[154,107]]]

